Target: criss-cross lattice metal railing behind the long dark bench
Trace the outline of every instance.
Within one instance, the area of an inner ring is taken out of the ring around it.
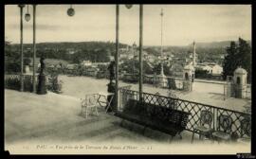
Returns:
[[[138,92],[128,89],[119,89],[119,111],[122,110],[123,106],[130,98],[138,100]],[[143,102],[152,103],[155,104],[155,106],[168,107],[170,109],[191,113],[186,127],[186,130],[190,132],[193,132],[194,128],[200,124],[200,115],[203,110],[210,111],[214,116],[211,123],[212,131],[221,131],[218,121],[219,115],[229,115],[232,118],[231,133],[236,137],[242,136],[243,130],[241,127],[241,121],[245,118],[250,118],[251,116],[248,113],[232,111],[225,108],[219,108],[174,97],[163,97],[154,94],[142,93],[142,98]]]

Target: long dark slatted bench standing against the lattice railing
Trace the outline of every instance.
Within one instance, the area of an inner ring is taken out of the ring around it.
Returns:
[[[159,132],[168,133],[173,139],[175,135],[179,135],[179,138],[182,138],[180,133],[185,130],[189,121],[189,115],[191,114],[129,99],[123,111],[118,111],[115,115],[123,120],[129,120],[144,126],[143,133],[146,128],[150,128]]]

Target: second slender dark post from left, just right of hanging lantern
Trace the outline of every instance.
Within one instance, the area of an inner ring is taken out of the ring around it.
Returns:
[[[36,66],[35,66],[35,59],[36,59],[36,5],[33,5],[33,93],[36,93]]]

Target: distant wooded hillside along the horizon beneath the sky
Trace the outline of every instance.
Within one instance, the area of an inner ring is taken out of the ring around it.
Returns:
[[[251,45],[251,41],[247,41]],[[237,43],[237,42],[236,42]],[[196,53],[199,62],[222,62],[226,55],[230,41],[196,43]],[[19,56],[19,44],[14,46]],[[119,48],[126,48],[128,44],[119,44]],[[32,44],[24,44],[25,57],[32,57]],[[160,46],[144,46],[144,50],[155,56],[160,56]],[[163,46],[166,55],[175,57],[189,57],[192,53],[192,43],[183,46]],[[108,62],[109,55],[116,53],[116,44],[112,42],[62,42],[62,43],[39,43],[37,44],[37,56],[45,55],[47,59],[60,59],[67,62],[81,62],[89,60],[92,62]],[[123,53],[123,52],[122,52]],[[120,54],[122,54],[120,52]],[[125,52],[124,52],[125,53]]]

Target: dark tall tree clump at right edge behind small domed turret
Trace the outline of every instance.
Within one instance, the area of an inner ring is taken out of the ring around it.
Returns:
[[[241,66],[247,70],[247,81],[251,77],[251,47],[247,41],[239,38],[238,44],[231,42],[227,48],[227,56],[223,62],[223,79],[233,76],[234,70]]]

